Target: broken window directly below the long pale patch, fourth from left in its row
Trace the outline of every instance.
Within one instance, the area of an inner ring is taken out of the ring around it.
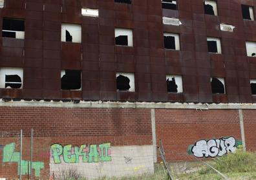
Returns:
[[[180,50],[180,35],[164,33],[164,48],[169,50]]]

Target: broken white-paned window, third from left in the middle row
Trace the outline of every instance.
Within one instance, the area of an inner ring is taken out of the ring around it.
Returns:
[[[114,37],[118,46],[133,46],[133,30],[116,28]]]

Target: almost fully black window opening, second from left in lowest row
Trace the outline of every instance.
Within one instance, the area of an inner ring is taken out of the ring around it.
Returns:
[[[65,70],[65,75],[61,77],[61,90],[80,90],[81,71]]]

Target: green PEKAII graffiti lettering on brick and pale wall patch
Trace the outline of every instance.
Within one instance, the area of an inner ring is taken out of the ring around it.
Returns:
[[[111,143],[101,145],[62,146],[54,144],[50,146],[52,159],[55,164],[61,163],[61,157],[65,163],[98,163],[99,161],[111,161],[109,155]],[[81,157],[81,159],[80,159]]]

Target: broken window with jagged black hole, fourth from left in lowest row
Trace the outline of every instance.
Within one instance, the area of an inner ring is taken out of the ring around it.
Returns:
[[[182,76],[181,75],[166,75],[167,92],[182,93]]]

